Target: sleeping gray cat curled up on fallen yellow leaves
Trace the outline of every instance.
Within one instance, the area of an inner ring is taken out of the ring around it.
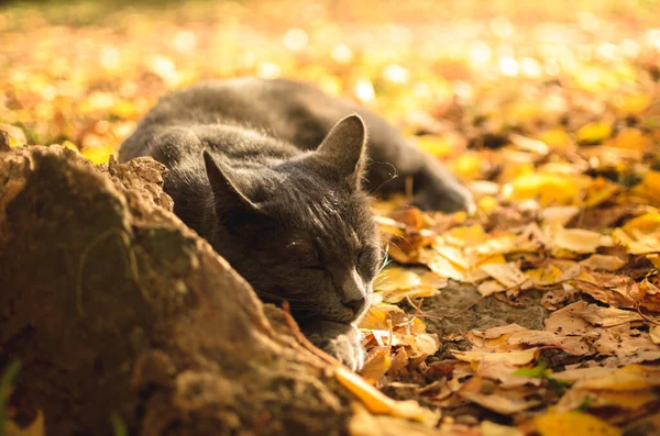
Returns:
[[[290,80],[169,93],[122,144],[120,161],[138,156],[167,166],[164,189],[182,221],[262,300],[288,301],[309,339],[353,369],[364,358],[354,323],[383,260],[365,191],[403,190],[410,176],[418,205],[473,208],[436,159],[383,119]],[[403,177],[392,180],[393,171]]]

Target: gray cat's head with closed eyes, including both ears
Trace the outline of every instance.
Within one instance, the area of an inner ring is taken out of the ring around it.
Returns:
[[[318,149],[276,165],[232,168],[205,154],[218,234],[211,244],[299,321],[361,317],[381,267],[380,237],[361,190],[366,130],[358,115]]]

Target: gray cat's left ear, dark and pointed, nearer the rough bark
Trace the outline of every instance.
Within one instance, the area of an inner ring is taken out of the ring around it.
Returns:
[[[258,205],[250,200],[244,189],[241,189],[241,179],[234,169],[222,159],[215,159],[207,150],[204,152],[204,164],[217,210],[240,208],[245,211],[258,211]]]

